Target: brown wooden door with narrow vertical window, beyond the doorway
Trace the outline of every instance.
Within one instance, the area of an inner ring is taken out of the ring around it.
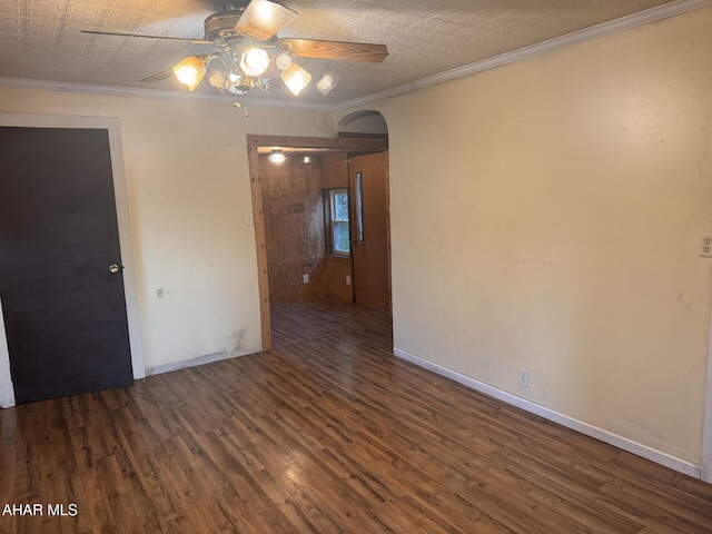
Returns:
[[[349,158],[354,301],[390,312],[387,152]]]

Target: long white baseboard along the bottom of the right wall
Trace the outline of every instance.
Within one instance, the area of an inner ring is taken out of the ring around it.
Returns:
[[[434,364],[433,362],[423,359],[418,356],[414,356],[399,348],[394,348],[393,354],[419,367],[424,367],[428,370],[437,373],[438,375],[451,378],[476,392],[483,393],[498,400],[511,404],[512,406],[516,406],[517,408],[522,408],[526,412],[538,415],[540,417],[544,417],[545,419],[552,421],[562,426],[585,434],[586,436],[600,439],[604,443],[607,443],[609,445],[613,445],[623,451],[627,451],[629,453],[642,456],[643,458],[650,459],[651,462],[655,462],[657,464],[664,465],[665,467],[670,467],[671,469],[684,473],[685,475],[690,475],[695,478],[700,478],[702,475],[702,469],[700,466],[696,466],[685,459],[678,458],[676,456],[672,456],[668,453],[663,453],[662,451],[649,447],[647,445],[643,445],[642,443],[634,442],[632,439],[629,439],[627,437],[613,434],[612,432],[604,431],[603,428],[590,425],[589,423],[584,423],[583,421],[575,419],[565,414],[555,412],[545,406],[541,406],[525,398],[517,397],[516,395],[512,395],[511,393],[504,392],[502,389],[497,389],[496,387],[490,386],[479,380],[475,380],[474,378],[471,378],[468,376],[461,375],[457,372],[451,370],[438,364]]]

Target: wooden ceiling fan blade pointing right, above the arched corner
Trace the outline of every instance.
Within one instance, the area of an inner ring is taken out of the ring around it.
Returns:
[[[380,63],[388,57],[388,48],[385,44],[369,44],[366,42],[279,39],[277,48],[300,58],[338,59],[368,63]]]

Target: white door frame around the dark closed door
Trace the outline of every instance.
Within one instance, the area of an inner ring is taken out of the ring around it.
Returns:
[[[136,283],[136,267],[134,247],[131,244],[131,227],[129,218],[128,192],[123,167],[123,149],[121,146],[121,123],[113,117],[73,117],[61,115],[22,115],[0,113],[0,127],[21,128],[81,128],[108,130],[109,150],[111,154],[111,174],[113,176],[113,196],[116,200],[117,222],[119,227],[119,247],[123,264],[123,296],[126,300],[126,316],[129,329],[129,348],[131,352],[131,368],[134,378],[144,378],[144,349],[141,345],[141,328],[139,320],[138,289]],[[14,387],[10,374],[10,353],[2,318],[2,301],[0,300],[0,407],[8,408],[16,405]]]

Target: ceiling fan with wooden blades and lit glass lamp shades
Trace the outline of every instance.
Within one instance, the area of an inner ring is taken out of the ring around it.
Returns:
[[[239,0],[205,19],[202,39],[148,36],[116,31],[82,30],[99,36],[168,39],[195,44],[209,44],[217,50],[189,56],[175,67],[144,78],[158,81],[176,76],[190,91],[207,76],[210,86],[245,95],[253,89],[267,91],[280,78],[295,95],[309,85],[312,75],[293,58],[336,59],[379,63],[388,56],[385,44],[278,38],[277,32],[291,22],[297,12],[270,0]],[[326,75],[316,88],[327,95],[335,86],[335,75]]]

